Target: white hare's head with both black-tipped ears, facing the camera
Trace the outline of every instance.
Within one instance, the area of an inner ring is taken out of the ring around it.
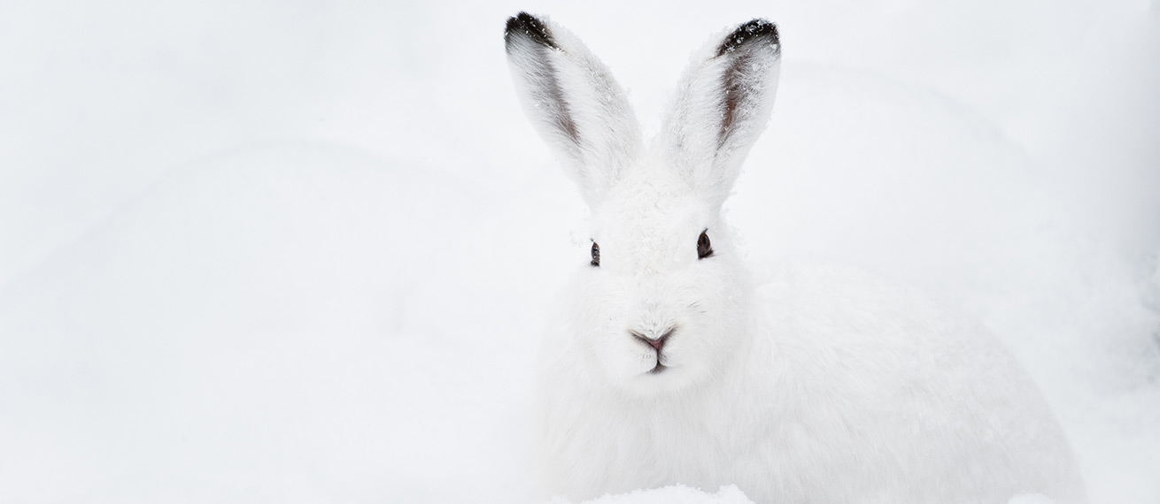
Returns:
[[[696,52],[648,148],[623,89],[575,36],[520,13],[505,41],[525,114],[592,209],[573,348],[594,375],[639,394],[732,365],[748,290],[720,207],[769,119],[776,27],[753,20]]]

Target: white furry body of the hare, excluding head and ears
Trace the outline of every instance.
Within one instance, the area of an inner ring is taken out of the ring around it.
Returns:
[[[985,330],[840,270],[786,271],[754,294],[761,315],[738,360],[680,394],[601,386],[577,349],[551,342],[539,397],[550,491],[732,483],[774,504],[1083,501],[1050,410]]]

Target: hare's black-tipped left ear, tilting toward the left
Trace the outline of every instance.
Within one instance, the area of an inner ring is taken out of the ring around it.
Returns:
[[[508,19],[503,41],[524,114],[595,206],[640,149],[624,90],[580,39],[550,21],[520,13]]]

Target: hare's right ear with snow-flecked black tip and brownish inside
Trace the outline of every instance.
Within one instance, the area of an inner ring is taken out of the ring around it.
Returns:
[[[756,19],[695,52],[681,78],[660,148],[717,205],[769,122],[781,52],[777,27]]]

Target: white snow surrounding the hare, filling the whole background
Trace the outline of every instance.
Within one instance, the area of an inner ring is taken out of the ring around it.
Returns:
[[[977,316],[1093,501],[1160,502],[1160,3],[621,3],[0,1],[0,503],[531,502],[587,236],[515,100],[520,9],[651,125],[711,34],[777,22],[751,260]],[[615,502],[745,502],[710,494]]]

